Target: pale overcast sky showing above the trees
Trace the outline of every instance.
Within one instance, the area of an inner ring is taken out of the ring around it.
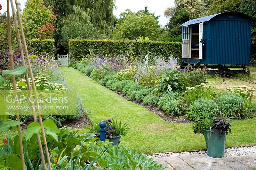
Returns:
[[[134,12],[144,9],[145,6],[148,6],[148,11],[156,13],[156,16],[160,15],[159,24],[164,26],[168,23],[168,19],[164,17],[164,10],[170,6],[174,6],[174,0],[116,0],[117,9],[114,11],[114,14],[119,18],[119,14],[124,12],[126,9],[130,9]],[[14,2],[14,1],[13,1]],[[26,0],[18,0],[21,4],[21,8],[25,7]],[[6,0],[0,0],[2,4],[1,13],[7,10]],[[11,5],[10,5],[11,6]]]

